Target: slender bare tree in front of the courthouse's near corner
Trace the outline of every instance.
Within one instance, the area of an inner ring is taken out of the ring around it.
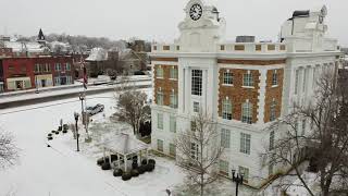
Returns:
[[[215,170],[223,147],[217,143],[216,123],[210,115],[199,112],[191,120],[191,128],[177,133],[177,159],[187,170],[188,180],[200,187],[200,195],[204,187],[219,177]]]

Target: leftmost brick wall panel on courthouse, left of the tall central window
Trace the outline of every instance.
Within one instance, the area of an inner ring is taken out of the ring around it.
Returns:
[[[163,78],[157,78],[157,68],[161,66],[163,69]],[[177,79],[170,79],[170,70],[172,68],[177,70],[177,65],[154,65],[153,77],[154,77],[154,101],[157,102],[157,93],[160,90],[163,93],[163,105],[170,106],[170,96],[174,89],[175,94],[177,93]]]

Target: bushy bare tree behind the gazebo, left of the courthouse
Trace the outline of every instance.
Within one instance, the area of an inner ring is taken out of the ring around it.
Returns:
[[[151,118],[151,109],[147,105],[147,97],[146,93],[129,89],[120,95],[119,98],[115,117],[119,121],[130,124],[136,136],[139,136],[140,123]]]

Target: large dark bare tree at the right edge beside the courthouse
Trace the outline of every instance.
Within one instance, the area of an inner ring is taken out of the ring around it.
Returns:
[[[335,72],[325,71],[316,82],[312,101],[294,103],[287,117],[269,127],[282,130],[279,138],[270,145],[269,163],[290,166],[312,196],[313,182],[306,180],[300,167],[304,161],[309,161],[308,171],[316,173],[323,196],[348,193],[348,86],[336,82]],[[303,132],[307,125],[310,131]]]

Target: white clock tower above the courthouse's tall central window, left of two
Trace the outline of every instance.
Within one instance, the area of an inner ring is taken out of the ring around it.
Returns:
[[[185,20],[179,23],[178,44],[186,52],[213,52],[214,46],[225,39],[225,20],[208,0],[190,0],[184,9]]]

